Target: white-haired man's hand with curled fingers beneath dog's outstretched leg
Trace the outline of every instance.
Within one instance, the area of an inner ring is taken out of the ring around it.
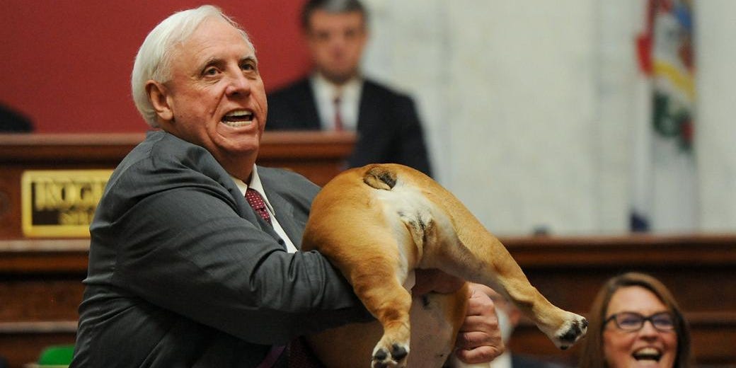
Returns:
[[[492,361],[505,349],[495,306],[484,288],[470,283],[465,322],[458,333],[455,354],[467,364]]]

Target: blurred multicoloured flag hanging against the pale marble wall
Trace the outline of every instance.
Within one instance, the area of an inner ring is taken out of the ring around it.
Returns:
[[[631,230],[691,232],[698,225],[692,4],[648,0],[637,39],[651,118],[634,138]]]

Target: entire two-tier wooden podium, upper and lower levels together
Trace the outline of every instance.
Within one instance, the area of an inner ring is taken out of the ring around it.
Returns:
[[[73,344],[89,239],[24,237],[21,177],[27,170],[113,169],[144,135],[0,135],[0,355],[10,367],[35,361],[51,344]],[[352,135],[266,133],[259,164],[292,169],[319,185],[343,168]],[[531,283],[561,308],[587,314],[607,277],[626,271],[658,277],[675,295],[693,332],[696,363],[736,365],[736,236],[502,238]],[[573,364],[528,322],[510,344]]]

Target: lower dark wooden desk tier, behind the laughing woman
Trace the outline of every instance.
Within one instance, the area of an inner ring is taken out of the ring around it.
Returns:
[[[531,283],[556,305],[587,314],[607,277],[648,272],[677,298],[693,330],[701,365],[736,365],[736,236],[503,238]],[[0,355],[12,367],[43,346],[73,343],[88,239],[0,241]],[[573,363],[578,348],[560,352],[523,324],[510,348]]]

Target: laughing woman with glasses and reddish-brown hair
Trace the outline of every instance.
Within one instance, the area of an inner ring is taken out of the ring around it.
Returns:
[[[667,287],[649,275],[612,277],[588,316],[580,367],[690,367],[690,330]]]

